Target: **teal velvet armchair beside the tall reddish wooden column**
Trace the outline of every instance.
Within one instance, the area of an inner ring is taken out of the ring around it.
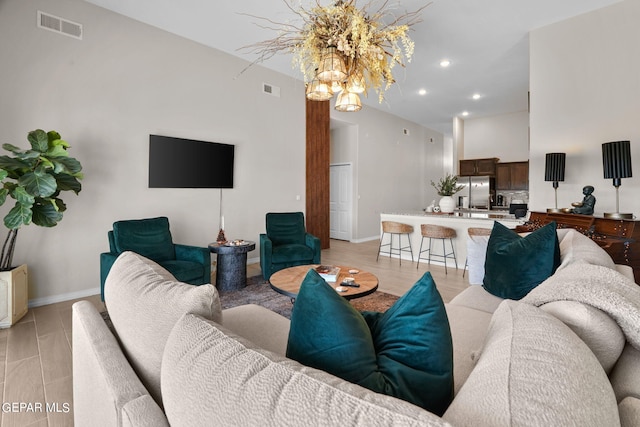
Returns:
[[[302,212],[271,212],[260,235],[260,268],[265,279],[288,267],[320,264],[320,239],[307,233]]]

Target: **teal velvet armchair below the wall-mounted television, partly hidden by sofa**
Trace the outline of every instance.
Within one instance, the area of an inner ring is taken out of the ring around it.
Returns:
[[[116,258],[125,251],[136,252],[167,269],[177,280],[192,285],[211,283],[209,248],[174,244],[166,217],[117,221],[107,233],[109,252],[100,254],[100,297],[104,282]]]

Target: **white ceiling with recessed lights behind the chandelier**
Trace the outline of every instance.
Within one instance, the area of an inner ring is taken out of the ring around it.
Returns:
[[[283,0],[86,0],[232,55],[255,60],[237,49],[277,35],[256,25],[259,20],[295,19]],[[380,5],[381,0],[371,0]],[[375,93],[365,108],[379,108],[451,135],[453,118],[468,119],[527,109],[529,90],[528,32],[599,9],[621,0],[434,0],[413,27],[416,48],[406,68],[396,67],[397,83],[378,104]],[[291,0],[309,7],[315,0]],[[414,11],[428,0],[389,0],[397,13]],[[321,1],[328,4],[328,1]],[[357,3],[360,7],[365,0]],[[374,8],[373,8],[374,9]],[[439,63],[447,58],[451,65]],[[263,66],[302,79],[282,54]],[[242,70],[238,70],[241,72]],[[418,94],[426,89],[427,94]],[[474,93],[481,98],[473,100]],[[357,114],[357,113],[342,113]]]

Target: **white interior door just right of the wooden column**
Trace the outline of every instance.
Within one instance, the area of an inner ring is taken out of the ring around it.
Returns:
[[[329,194],[329,237],[351,240],[353,218],[353,167],[351,164],[331,165]]]

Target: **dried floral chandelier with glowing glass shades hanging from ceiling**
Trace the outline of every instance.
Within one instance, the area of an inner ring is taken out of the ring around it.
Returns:
[[[411,62],[414,43],[407,35],[411,26],[419,23],[420,13],[395,16],[388,1],[371,12],[373,0],[358,8],[356,0],[338,0],[321,6],[319,0],[311,9],[285,4],[302,19],[302,24],[279,23],[255,17],[275,25],[279,35],[247,46],[262,62],[279,52],[293,53],[293,63],[300,67],[306,84],[306,96],[314,101],[326,101],[338,94],[336,110],[359,111],[359,94],[367,89],[384,92],[394,83],[392,69]]]

